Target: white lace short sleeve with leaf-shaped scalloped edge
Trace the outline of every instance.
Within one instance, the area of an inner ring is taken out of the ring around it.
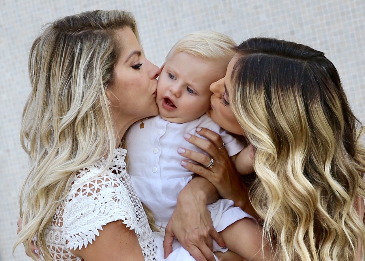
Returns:
[[[112,173],[77,185],[71,192],[63,216],[69,249],[92,244],[98,230],[116,220],[141,233],[128,191]]]

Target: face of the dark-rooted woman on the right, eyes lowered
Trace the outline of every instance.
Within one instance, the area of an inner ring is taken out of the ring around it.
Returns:
[[[236,117],[231,110],[230,105],[230,89],[231,89],[231,74],[233,66],[238,60],[238,56],[235,55],[229,62],[227,67],[226,76],[224,78],[213,82],[210,85],[210,91],[213,93],[211,96],[211,109],[207,112],[207,115],[214,120],[220,127],[225,130],[238,135],[244,135],[241,126],[239,125]]]

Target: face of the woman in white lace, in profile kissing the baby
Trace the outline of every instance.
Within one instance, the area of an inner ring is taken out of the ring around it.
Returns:
[[[106,93],[118,126],[120,122],[135,122],[158,115],[156,78],[160,69],[143,55],[131,28],[125,27],[115,34],[121,54],[115,64],[114,81]]]

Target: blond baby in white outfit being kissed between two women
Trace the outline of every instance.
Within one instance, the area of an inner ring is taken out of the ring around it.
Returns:
[[[220,134],[228,155],[241,170],[240,174],[248,174],[245,171],[249,168],[242,166],[249,158],[242,151],[243,146],[205,114],[212,95],[209,87],[224,77],[234,55],[232,46],[233,40],[213,31],[199,31],[180,39],[161,67],[156,98],[160,115],[135,123],[127,133],[128,173],[139,199],[152,211],[155,224],[162,231],[176,207],[179,192],[194,174],[180,165],[185,158],[177,153],[178,148],[203,152],[185,141],[185,133],[202,137],[196,133],[196,128],[205,127]],[[230,225],[242,226],[240,222],[244,218],[254,220],[227,199],[218,200],[208,209],[218,232]],[[163,232],[154,234],[157,260],[162,260],[159,258],[164,253],[164,235]],[[178,242],[174,242],[173,249],[168,260],[193,260]],[[224,252],[226,249],[214,242],[214,251],[217,250]],[[244,256],[245,252],[238,254]]]

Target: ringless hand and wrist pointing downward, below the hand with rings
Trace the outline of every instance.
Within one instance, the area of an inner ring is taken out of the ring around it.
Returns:
[[[214,239],[224,247],[222,237],[215,230],[207,204],[218,200],[219,194],[208,180],[194,177],[180,192],[174,212],[166,225],[164,251],[172,252],[173,239],[189,251],[195,260],[214,261],[212,254]]]

